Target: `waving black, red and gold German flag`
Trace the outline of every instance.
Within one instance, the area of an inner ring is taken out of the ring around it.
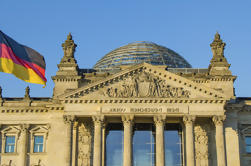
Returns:
[[[35,84],[46,84],[45,61],[35,50],[17,43],[0,30],[0,72]]]

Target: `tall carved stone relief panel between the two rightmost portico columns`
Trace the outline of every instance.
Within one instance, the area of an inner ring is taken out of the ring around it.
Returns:
[[[196,125],[194,127],[196,166],[208,166],[208,127]]]

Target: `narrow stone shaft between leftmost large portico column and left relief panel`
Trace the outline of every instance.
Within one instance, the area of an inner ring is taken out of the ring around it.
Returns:
[[[78,121],[74,121],[73,122],[73,129],[72,129],[72,166],[76,165],[77,130],[78,130]]]

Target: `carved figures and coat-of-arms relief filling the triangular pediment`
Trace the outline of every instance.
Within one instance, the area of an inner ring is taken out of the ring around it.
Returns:
[[[108,97],[165,97],[189,98],[190,92],[182,87],[171,87],[165,80],[154,75],[141,72],[126,78],[122,83],[109,87],[104,91]]]

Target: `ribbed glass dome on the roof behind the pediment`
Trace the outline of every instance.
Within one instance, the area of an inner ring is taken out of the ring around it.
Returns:
[[[116,68],[121,65],[143,62],[152,65],[167,65],[170,68],[191,68],[191,65],[173,50],[142,41],[130,43],[109,52],[94,65],[94,69]]]

